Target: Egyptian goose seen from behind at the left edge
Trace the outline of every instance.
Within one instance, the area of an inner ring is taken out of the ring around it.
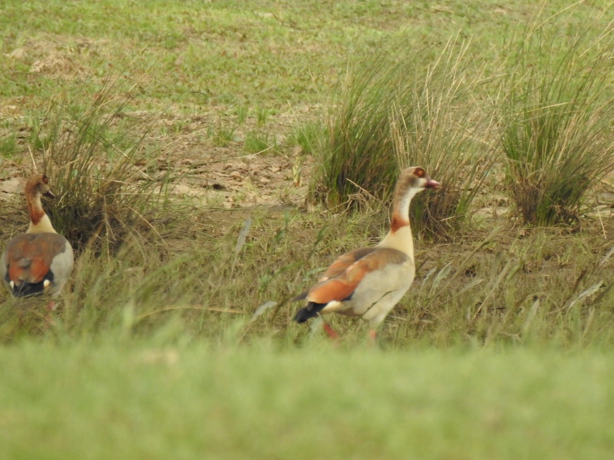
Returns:
[[[0,276],[15,297],[39,294],[56,297],[74,264],[70,243],[53,229],[42,209],[42,195],[54,197],[49,179],[43,174],[33,175],[26,182],[28,231],[9,240],[2,254]],[[49,308],[53,305],[52,301]]]

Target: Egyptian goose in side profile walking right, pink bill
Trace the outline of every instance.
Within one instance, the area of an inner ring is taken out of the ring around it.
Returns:
[[[293,299],[306,299],[306,307],[294,317],[304,323],[321,313],[362,316],[370,324],[370,336],[410,288],[416,273],[410,227],[410,202],[416,193],[440,186],[421,167],[404,169],[398,177],[392,204],[391,228],[371,248],[349,251],[337,258],[309,291]],[[324,324],[331,337],[335,332]]]

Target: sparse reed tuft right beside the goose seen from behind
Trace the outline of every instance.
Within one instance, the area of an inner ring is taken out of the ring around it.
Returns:
[[[151,136],[156,117],[128,114],[133,94],[123,84],[107,79],[88,105],[51,104],[31,136],[34,163],[58,195],[45,208],[78,252],[112,252],[128,236],[161,241],[160,223],[181,219],[170,196],[179,172]]]

